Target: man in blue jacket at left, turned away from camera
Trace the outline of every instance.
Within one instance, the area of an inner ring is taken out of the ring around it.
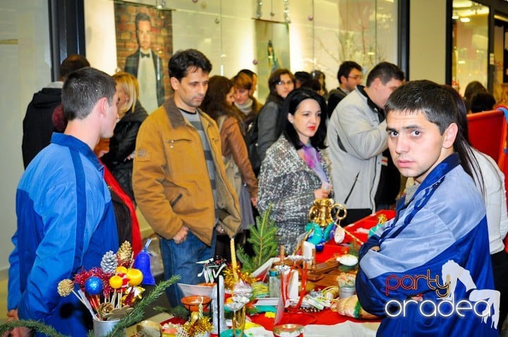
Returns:
[[[18,228],[9,257],[8,316],[33,319],[68,336],[85,336],[92,317],[57,286],[99,266],[118,249],[111,195],[93,149],[119,118],[111,76],[94,68],[70,73],[62,89],[63,134],[32,160],[16,192]],[[20,329],[28,333],[28,329]]]

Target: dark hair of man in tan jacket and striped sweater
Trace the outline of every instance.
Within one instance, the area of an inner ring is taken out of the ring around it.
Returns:
[[[212,63],[196,49],[179,50],[171,56],[168,62],[169,77],[181,80],[186,77],[187,72],[194,72],[201,69],[203,73],[212,71]]]

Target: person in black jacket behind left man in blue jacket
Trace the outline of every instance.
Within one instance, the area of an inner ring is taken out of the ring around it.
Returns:
[[[89,67],[90,63],[85,56],[68,56],[60,66],[60,78],[43,87],[40,92],[33,95],[28,104],[25,118],[23,119],[23,165],[26,167],[30,161],[49,145],[54,131],[52,115],[53,111],[61,102],[61,88],[67,75],[80,68]]]

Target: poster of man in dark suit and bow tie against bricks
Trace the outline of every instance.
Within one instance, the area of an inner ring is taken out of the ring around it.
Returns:
[[[116,3],[115,17],[119,68],[138,78],[139,99],[150,114],[162,105],[169,89],[171,12]]]

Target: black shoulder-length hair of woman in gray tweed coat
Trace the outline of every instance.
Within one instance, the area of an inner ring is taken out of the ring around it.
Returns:
[[[291,91],[286,99],[284,99],[284,104],[282,105],[282,111],[278,116],[277,121],[277,137],[281,134],[286,137],[286,139],[296,148],[300,149],[303,147],[300,138],[298,137],[298,133],[294,128],[294,125],[288,121],[288,114],[294,115],[296,109],[298,109],[298,105],[301,104],[306,99],[314,99],[317,104],[319,104],[321,109],[321,121],[320,125],[317,126],[317,131],[313,137],[310,137],[310,144],[317,149],[324,149],[325,138],[326,138],[326,113],[327,113],[327,105],[325,99],[317,92],[310,90],[306,87],[301,87]]]

